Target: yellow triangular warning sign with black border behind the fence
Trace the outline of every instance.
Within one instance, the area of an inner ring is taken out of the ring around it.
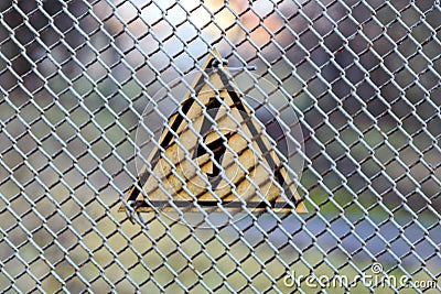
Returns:
[[[214,53],[217,57],[217,52]],[[286,168],[226,68],[209,56],[126,200],[136,211],[306,213]],[[142,190],[140,190],[142,187]],[[288,199],[288,202],[287,202]],[[122,206],[120,210],[125,210]]]

